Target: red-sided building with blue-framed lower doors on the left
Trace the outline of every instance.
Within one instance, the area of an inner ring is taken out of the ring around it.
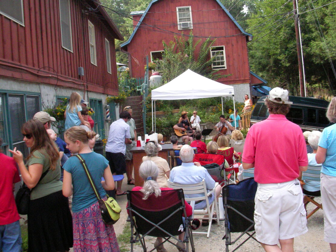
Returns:
[[[27,151],[22,124],[73,91],[95,110],[94,130],[103,136],[106,96],[118,94],[114,39],[123,37],[99,2],[0,1],[0,30],[0,138],[5,151]]]

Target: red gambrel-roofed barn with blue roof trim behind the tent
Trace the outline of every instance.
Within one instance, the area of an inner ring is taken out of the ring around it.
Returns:
[[[209,58],[216,57],[212,68],[223,75],[230,74],[217,81],[233,85],[236,100],[243,101],[244,95],[250,94],[251,85],[266,83],[250,71],[247,43],[252,35],[242,29],[219,0],[153,0],[145,11],[131,15],[135,29],[121,45],[129,56],[131,77],[144,76],[146,56],[150,61],[160,58],[162,41],[169,44],[175,35],[192,30],[195,40],[216,38],[209,52]]]

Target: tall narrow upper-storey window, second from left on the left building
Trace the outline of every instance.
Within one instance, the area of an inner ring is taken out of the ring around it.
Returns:
[[[73,52],[69,0],[59,0],[59,17],[61,25],[62,47]]]

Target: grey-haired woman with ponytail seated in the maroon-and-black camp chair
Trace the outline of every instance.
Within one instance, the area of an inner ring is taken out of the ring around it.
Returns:
[[[158,174],[159,174],[158,167],[153,161],[147,160],[147,161],[142,162],[139,168],[139,175],[144,180],[143,187],[135,186],[132,189],[132,191],[142,192],[143,193],[142,199],[146,200],[151,194],[154,194],[155,197],[158,197],[161,195],[161,191],[173,190],[172,188],[168,188],[168,187],[160,188],[159,184],[156,182]],[[184,204],[185,204],[185,212],[187,216],[192,215],[193,214],[192,207],[186,201],[184,201]],[[183,240],[183,237],[184,237],[184,232],[182,232],[178,236],[178,239]],[[158,237],[154,243],[154,247],[157,247],[156,248],[157,252],[167,252],[167,250],[163,247],[163,244],[159,245],[160,243],[162,243],[162,237]],[[183,243],[178,242],[177,245],[185,249],[185,246]],[[178,249],[178,251],[182,251],[182,250]]]

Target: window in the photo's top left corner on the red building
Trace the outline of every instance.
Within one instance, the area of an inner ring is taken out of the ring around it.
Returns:
[[[0,13],[25,26],[22,0],[0,1]]]

